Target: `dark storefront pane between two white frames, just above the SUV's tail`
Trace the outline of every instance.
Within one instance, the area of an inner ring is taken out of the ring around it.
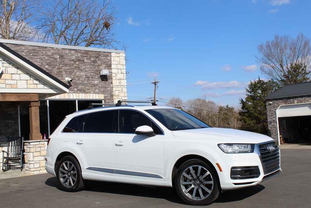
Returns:
[[[75,111],[76,100],[49,100],[50,133],[53,133],[66,115]]]

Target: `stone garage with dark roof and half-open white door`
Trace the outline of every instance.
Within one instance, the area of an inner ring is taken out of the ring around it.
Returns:
[[[311,82],[285,85],[266,97],[266,106],[269,133],[278,144],[311,143]]]

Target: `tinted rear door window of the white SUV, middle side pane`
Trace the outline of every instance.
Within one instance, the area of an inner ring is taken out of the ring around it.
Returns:
[[[114,110],[90,113],[84,122],[83,132],[112,133],[114,132]]]

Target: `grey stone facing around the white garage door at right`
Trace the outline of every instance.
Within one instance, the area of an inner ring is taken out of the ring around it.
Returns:
[[[270,102],[272,102],[271,105],[269,104]],[[277,134],[278,126],[277,126],[277,121],[276,121],[276,109],[280,105],[301,104],[301,103],[311,103],[311,95],[266,100],[269,133],[270,133],[270,136],[276,141],[277,144],[278,144],[279,138]]]

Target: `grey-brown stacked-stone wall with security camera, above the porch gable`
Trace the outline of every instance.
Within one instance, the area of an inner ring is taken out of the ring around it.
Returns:
[[[69,93],[104,94],[105,102],[113,102],[111,53],[64,48],[8,44],[12,50],[29,59],[58,79],[72,78]],[[100,70],[108,69],[107,79]]]

